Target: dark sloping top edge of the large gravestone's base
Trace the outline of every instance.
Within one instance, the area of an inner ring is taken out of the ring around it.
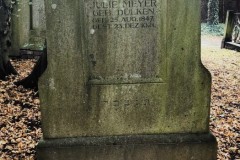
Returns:
[[[201,144],[212,143],[217,146],[211,133],[204,134],[160,134],[128,135],[108,137],[78,137],[62,139],[42,139],[37,149],[66,148],[73,146],[129,145],[129,144]]]

